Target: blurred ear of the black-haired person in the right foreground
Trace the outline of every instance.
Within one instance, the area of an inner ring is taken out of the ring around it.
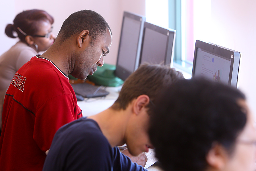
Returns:
[[[228,161],[228,152],[221,144],[213,144],[206,156],[206,161],[210,167],[222,169]]]

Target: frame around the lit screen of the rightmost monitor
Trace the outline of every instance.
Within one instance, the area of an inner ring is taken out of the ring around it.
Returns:
[[[208,53],[219,56],[223,59],[231,60],[228,85],[238,88],[241,53],[238,51],[235,51],[235,50],[231,50],[229,48],[219,46],[217,44],[213,44],[210,42],[203,42],[201,40],[196,40],[193,68],[192,68],[192,78],[195,77],[195,67],[196,67],[197,49],[198,48],[200,48],[201,50],[206,51]],[[232,58],[232,55],[233,55],[233,58]]]

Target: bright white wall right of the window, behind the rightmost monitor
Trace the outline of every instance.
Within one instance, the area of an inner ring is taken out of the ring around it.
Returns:
[[[209,42],[242,53],[239,89],[256,116],[256,1],[212,0]]]

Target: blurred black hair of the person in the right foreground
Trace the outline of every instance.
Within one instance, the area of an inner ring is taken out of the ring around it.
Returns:
[[[164,170],[202,171],[214,143],[229,155],[246,123],[245,99],[234,87],[208,80],[179,80],[150,106],[149,135]]]

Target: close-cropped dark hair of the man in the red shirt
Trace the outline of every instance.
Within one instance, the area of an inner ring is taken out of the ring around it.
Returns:
[[[89,30],[90,43],[93,44],[99,35],[106,34],[107,28],[111,32],[108,23],[100,14],[91,10],[82,10],[71,14],[63,22],[58,36],[64,41],[82,30]]]

